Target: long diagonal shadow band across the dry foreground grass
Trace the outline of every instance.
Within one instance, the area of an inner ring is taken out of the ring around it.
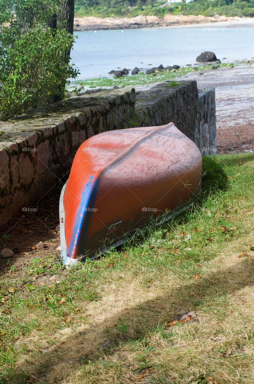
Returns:
[[[119,351],[120,343],[138,341],[149,337],[158,327],[164,327],[169,318],[194,310],[199,313],[202,306],[209,301],[219,300],[225,295],[233,294],[246,286],[246,280],[253,283],[254,258],[239,260],[234,265],[221,267],[208,273],[201,280],[187,281],[173,289],[168,287],[163,295],[143,301],[124,311],[108,310],[103,319],[96,319],[96,327],[71,334],[49,352],[41,353],[12,371],[3,383],[60,383],[71,379],[71,376],[84,365],[101,363],[105,356],[113,356]],[[96,311],[96,308],[95,308]],[[115,324],[129,324],[129,330],[122,334]],[[185,324],[184,326],[188,326]],[[212,332],[212,330],[211,330]],[[105,343],[108,348],[105,349]],[[117,356],[116,356],[117,358]],[[124,364],[124,362],[123,362]],[[56,367],[59,365],[59,368]]]

